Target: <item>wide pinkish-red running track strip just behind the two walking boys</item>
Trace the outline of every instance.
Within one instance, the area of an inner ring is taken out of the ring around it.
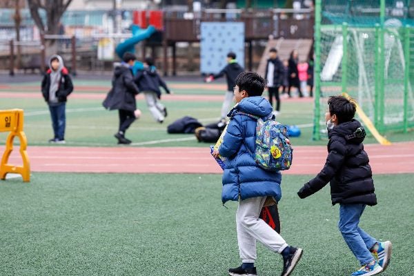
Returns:
[[[21,164],[17,146],[10,164]],[[374,174],[414,173],[414,142],[365,146]],[[0,147],[3,152],[4,147]],[[295,146],[286,174],[314,175],[322,169],[326,146]],[[206,148],[28,147],[33,172],[221,173]]]

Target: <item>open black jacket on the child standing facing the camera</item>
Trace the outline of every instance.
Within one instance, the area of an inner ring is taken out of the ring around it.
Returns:
[[[49,101],[49,88],[50,88],[50,72],[49,69],[48,72],[46,72],[46,75],[43,77],[43,80],[41,81],[41,94],[43,95],[43,98],[45,101]],[[73,91],[73,84],[72,79],[70,79],[68,69],[63,67],[61,69],[61,79],[59,81],[59,88],[56,92],[56,97],[59,103],[66,102],[68,100],[68,96]]]

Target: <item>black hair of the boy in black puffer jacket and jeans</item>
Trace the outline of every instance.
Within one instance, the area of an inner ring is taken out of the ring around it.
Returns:
[[[343,96],[332,96],[328,99],[329,112],[336,115],[338,124],[351,121],[355,116],[357,107],[353,99],[346,99]]]

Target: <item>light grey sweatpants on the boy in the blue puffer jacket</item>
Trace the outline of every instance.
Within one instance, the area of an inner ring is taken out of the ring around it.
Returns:
[[[253,263],[257,257],[256,240],[275,253],[281,254],[288,246],[285,240],[263,219],[259,219],[266,197],[252,197],[239,200],[236,213],[237,242],[240,259]]]

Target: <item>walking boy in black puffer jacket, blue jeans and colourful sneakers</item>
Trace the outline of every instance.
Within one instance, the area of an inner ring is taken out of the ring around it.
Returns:
[[[365,130],[353,119],[356,111],[353,101],[335,96],[328,99],[328,106],[325,166],[297,194],[303,199],[331,182],[332,204],[339,204],[339,231],[362,266],[351,276],[376,275],[388,266],[392,245],[389,241],[377,242],[358,226],[365,206],[377,204],[371,166],[362,144]]]

